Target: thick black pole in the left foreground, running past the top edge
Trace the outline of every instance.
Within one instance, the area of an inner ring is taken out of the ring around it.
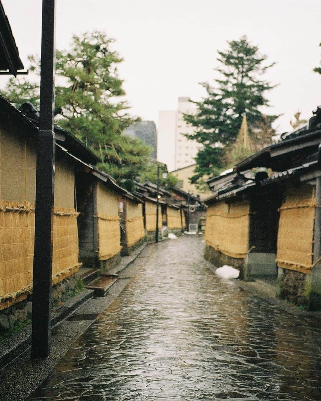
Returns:
[[[55,133],[53,131],[56,61],[55,9],[56,0],[43,0],[35,254],[33,257],[32,358],[45,358],[50,354],[53,194],[55,188]]]

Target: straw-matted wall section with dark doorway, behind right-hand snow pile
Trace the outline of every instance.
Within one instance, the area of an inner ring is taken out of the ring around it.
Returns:
[[[276,277],[277,194],[262,190],[260,177],[234,172],[217,177],[208,205],[205,257],[217,265],[240,269],[244,279],[254,275]],[[213,184],[213,182],[212,182]]]

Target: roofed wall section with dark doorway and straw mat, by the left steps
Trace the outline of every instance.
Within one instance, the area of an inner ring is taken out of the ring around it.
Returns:
[[[104,271],[120,261],[119,196],[130,194],[105,172],[87,166],[77,173],[79,256],[87,267]]]

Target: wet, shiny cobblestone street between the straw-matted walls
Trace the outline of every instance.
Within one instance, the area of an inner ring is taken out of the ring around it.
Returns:
[[[39,400],[320,400],[321,327],[223,281],[202,238],[158,244]]]

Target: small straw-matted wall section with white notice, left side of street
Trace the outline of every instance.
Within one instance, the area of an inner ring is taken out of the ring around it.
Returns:
[[[124,194],[118,196],[118,213],[121,226],[121,255],[128,256],[145,240],[144,202],[137,196]]]

